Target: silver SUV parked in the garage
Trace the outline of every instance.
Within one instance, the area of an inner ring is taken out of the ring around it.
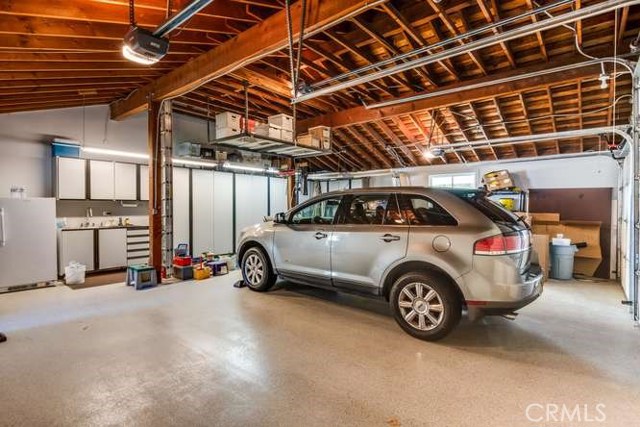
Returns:
[[[281,277],[384,296],[410,335],[437,340],[463,308],[510,314],[542,292],[531,232],[479,190],[390,187],[326,193],[246,228],[249,288]]]

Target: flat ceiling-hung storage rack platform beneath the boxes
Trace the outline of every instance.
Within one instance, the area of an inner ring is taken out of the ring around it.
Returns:
[[[277,157],[315,157],[330,154],[329,150],[296,145],[294,142],[269,138],[268,136],[243,133],[226,138],[209,141],[209,144],[220,147],[237,148]]]

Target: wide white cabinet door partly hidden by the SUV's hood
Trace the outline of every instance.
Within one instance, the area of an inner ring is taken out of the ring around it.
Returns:
[[[236,175],[236,239],[240,231],[268,215],[266,176]]]

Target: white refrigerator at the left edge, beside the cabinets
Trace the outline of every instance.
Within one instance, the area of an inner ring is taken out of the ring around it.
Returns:
[[[0,291],[56,279],[56,200],[0,198]]]

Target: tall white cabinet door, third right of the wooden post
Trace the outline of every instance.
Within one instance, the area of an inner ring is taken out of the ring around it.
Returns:
[[[213,173],[213,249],[233,252],[233,174]]]

